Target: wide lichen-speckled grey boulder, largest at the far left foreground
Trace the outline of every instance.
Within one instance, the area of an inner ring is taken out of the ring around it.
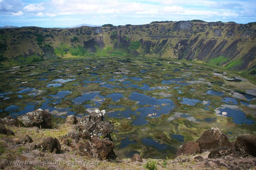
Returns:
[[[25,115],[18,116],[18,121],[25,127],[41,127],[50,128],[52,126],[51,115],[48,111],[37,109],[32,112],[28,112]]]

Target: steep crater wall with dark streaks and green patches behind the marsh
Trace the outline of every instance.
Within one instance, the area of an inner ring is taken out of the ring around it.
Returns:
[[[154,23],[113,27],[0,30],[1,60],[72,55],[141,55],[200,60],[255,74],[256,25],[222,22]],[[86,54],[72,53],[83,47]],[[61,53],[59,53],[61,50]],[[97,53],[104,51],[104,53]],[[122,51],[122,53],[120,52]],[[36,60],[36,59],[35,59]]]

